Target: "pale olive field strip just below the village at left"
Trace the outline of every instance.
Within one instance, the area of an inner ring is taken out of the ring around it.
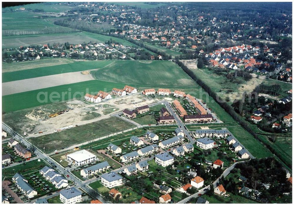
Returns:
[[[2,62],[2,73],[14,72],[14,71],[18,71],[18,70],[28,70],[28,69],[32,69],[32,68],[41,68],[41,67],[43,68],[43,67],[68,64],[68,63],[73,63],[73,62],[74,62],[74,60],[72,60],[70,58],[43,58],[38,61],[22,61],[22,62],[17,62],[17,63]]]

